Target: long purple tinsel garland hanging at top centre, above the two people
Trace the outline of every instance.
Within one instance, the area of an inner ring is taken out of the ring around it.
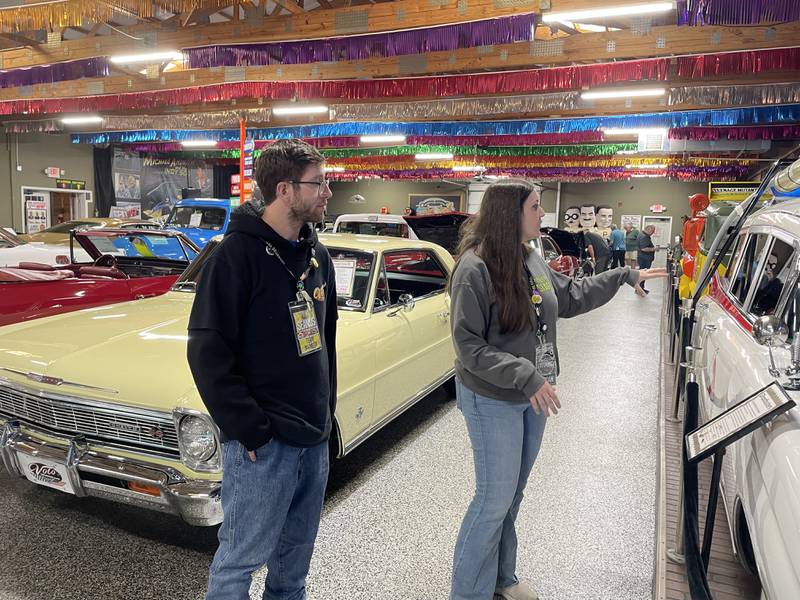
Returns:
[[[186,48],[183,53],[191,69],[363,60],[527,42],[533,39],[535,25],[536,15],[528,14],[394,33],[297,42]]]

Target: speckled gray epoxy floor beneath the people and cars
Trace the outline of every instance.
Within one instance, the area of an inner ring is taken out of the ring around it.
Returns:
[[[651,287],[559,322],[564,409],[518,520],[518,575],[543,600],[652,597],[662,297]],[[463,419],[439,390],[334,469],[309,599],[446,598],[472,488]],[[201,598],[215,546],[214,529],[0,473],[0,600]]]

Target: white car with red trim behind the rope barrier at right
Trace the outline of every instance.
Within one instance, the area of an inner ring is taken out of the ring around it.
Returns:
[[[781,175],[776,202],[748,217],[726,275],[697,305],[691,366],[703,422],[775,380],[800,405],[800,161]],[[800,598],[800,408],[728,448],[721,495],[734,552],[764,595]]]

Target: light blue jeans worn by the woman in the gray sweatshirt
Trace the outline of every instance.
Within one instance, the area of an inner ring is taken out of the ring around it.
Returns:
[[[530,403],[487,398],[456,383],[476,489],[456,542],[450,600],[492,600],[496,587],[517,582],[514,521],[547,417],[533,412]]]

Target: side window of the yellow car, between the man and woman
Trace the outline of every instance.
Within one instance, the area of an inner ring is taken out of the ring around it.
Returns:
[[[376,298],[393,305],[403,294],[421,298],[444,291],[447,271],[430,250],[387,252],[383,255],[382,272],[376,285]]]

